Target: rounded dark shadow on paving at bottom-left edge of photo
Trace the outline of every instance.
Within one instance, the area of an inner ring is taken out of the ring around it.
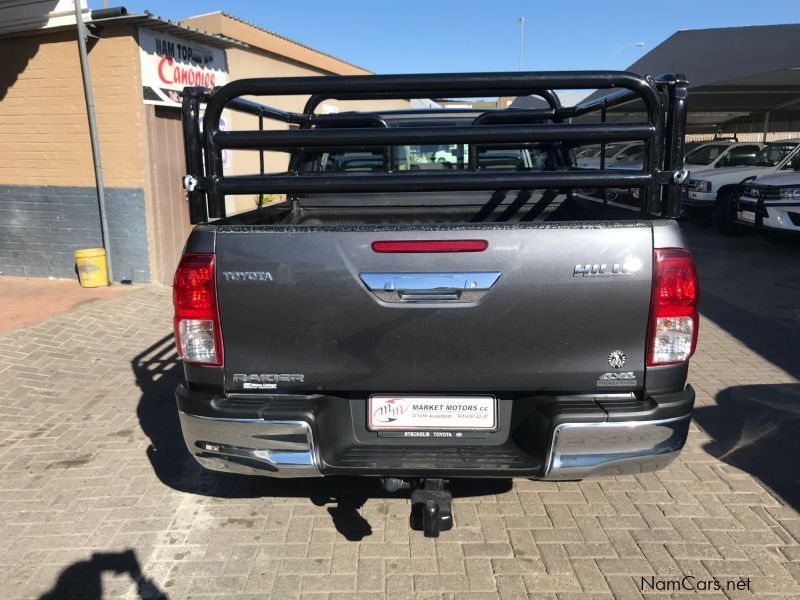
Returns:
[[[58,576],[55,585],[39,600],[101,600],[103,598],[102,575],[105,572],[122,575],[127,573],[136,583],[138,597],[147,600],[166,598],[158,586],[147,579],[133,550],[124,552],[98,552],[89,560],[82,560],[66,567]]]

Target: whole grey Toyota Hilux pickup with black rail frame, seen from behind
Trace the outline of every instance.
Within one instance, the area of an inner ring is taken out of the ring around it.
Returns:
[[[669,464],[689,428],[698,330],[674,220],[686,87],[602,71],[186,88],[197,225],[174,305],[190,452],[218,471],[409,488],[426,535],[452,525],[452,478]],[[579,88],[607,93],[562,106],[557,90]],[[252,100],[301,94],[302,113]],[[316,112],[485,95],[532,108]],[[258,129],[221,130],[223,109]],[[620,141],[644,142],[641,168],[575,166],[575,148]],[[259,171],[228,174],[231,151],[256,154]],[[265,171],[275,153],[287,166]],[[226,216],[226,197],[265,194],[285,200]]]

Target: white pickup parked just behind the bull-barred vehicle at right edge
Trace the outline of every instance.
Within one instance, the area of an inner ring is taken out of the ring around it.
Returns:
[[[731,233],[734,218],[734,194],[745,179],[757,179],[783,169],[791,169],[791,160],[800,146],[800,139],[764,144],[753,164],[692,171],[689,187],[684,190],[683,205],[692,209],[713,211],[714,223],[720,231]]]

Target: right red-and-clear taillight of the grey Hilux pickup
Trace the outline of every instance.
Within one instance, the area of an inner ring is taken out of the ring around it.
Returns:
[[[694,354],[698,292],[697,269],[688,250],[664,248],[653,252],[649,366],[683,362]]]

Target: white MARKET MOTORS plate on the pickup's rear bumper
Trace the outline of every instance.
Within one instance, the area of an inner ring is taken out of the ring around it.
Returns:
[[[494,396],[394,396],[369,398],[367,422],[372,431],[489,430],[496,425]]]

